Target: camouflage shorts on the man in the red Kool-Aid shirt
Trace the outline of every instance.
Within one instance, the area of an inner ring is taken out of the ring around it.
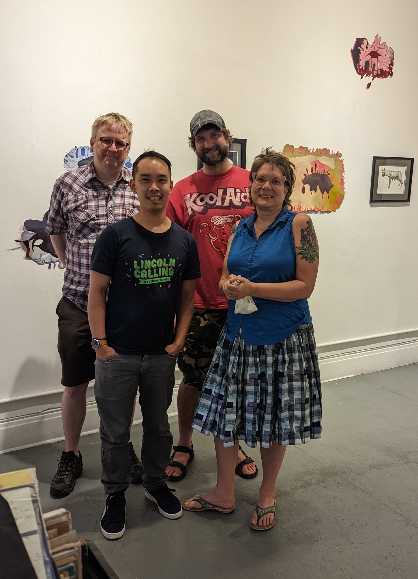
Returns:
[[[202,390],[227,312],[227,309],[194,310],[177,364],[183,372],[183,382],[195,390]]]

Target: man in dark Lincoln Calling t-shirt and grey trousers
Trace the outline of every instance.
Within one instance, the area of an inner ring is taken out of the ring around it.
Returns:
[[[100,415],[101,482],[108,495],[100,528],[109,539],[125,532],[129,425],[138,390],[146,497],[166,518],[182,514],[180,501],[166,484],[173,443],[167,410],[200,277],[194,237],[165,215],[173,188],[171,163],[147,151],[133,164],[132,175],[130,187],[140,211],[103,230],[90,264],[94,394]]]

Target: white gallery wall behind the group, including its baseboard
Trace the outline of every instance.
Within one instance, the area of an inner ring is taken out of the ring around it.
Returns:
[[[373,155],[418,163],[417,17],[415,0],[2,3],[0,451],[61,436],[63,272],[12,250],[23,222],[48,210],[65,153],[110,111],[134,124],[130,157],[152,146],[174,181],[195,170],[188,124],[202,108],[247,139],[247,168],[267,145],[340,151],[343,204],[312,215],[322,376],[418,360],[418,164],[409,204],[369,204]],[[394,75],[366,90],[350,49],[376,34],[394,49]],[[85,431],[96,427],[89,391]]]

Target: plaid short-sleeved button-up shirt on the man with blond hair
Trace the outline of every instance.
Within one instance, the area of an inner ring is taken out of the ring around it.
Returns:
[[[112,189],[96,176],[93,163],[57,179],[49,206],[46,232],[67,233],[63,295],[87,312],[90,257],[99,234],[108,225],[135,215],[139,201],[129,188],[130,171]]]

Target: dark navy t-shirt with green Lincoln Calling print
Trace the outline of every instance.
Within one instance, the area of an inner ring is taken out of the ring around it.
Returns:
[[[100,233],[90,269],[112,278],[108,345],[118,354],[165,354],[174,340],[181,282],[201,276],[194,237],[173,222],[165,233],[152,233],[128,217]]]

